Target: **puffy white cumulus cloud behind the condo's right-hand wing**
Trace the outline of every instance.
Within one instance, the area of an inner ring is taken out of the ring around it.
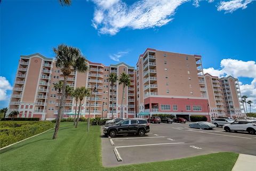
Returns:
[[[253,101],[251,110],[256,111],[256,63],[255,61],[242,61],[234,59],[223,59],[220,62],[221,69],[206,68],[204,73],[208,72],[212,76],[225,77],[231,75],[235,78],[247,77],[253,78],[251,84],[239,82],[242,95],[247,95],[248,99]],[[247,104],[249,112],[249,104]]]

